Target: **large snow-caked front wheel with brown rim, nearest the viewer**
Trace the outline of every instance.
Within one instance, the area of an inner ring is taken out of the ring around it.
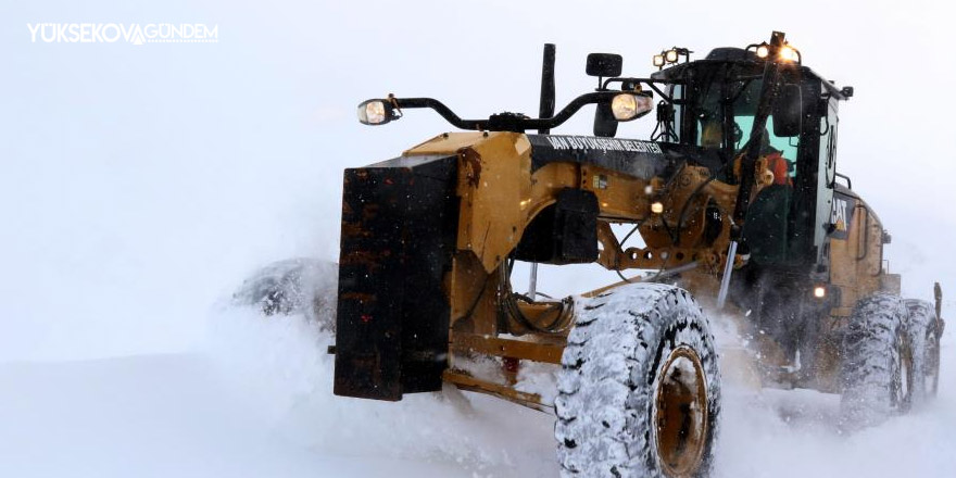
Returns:
[[[709,325],[687,291],[622,286],[579,303],[555,400],[564,476],[705,476],[720,412]]]

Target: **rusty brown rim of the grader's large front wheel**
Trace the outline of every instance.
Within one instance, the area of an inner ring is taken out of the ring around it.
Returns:
[[[707,440],[707,387],[697,353],[679,347],[661,372],[654,401],[657,461],[668,477],[693,475]]]

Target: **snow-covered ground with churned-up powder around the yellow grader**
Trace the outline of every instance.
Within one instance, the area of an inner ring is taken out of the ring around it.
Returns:
[[[550,416],[454,393],[335,398],[330,338],[230,311],[193,354],[0,365],[4,477],[555,476]],[[939,400],[843,436],[839,399],[730,390],[720,477],[956,476],[956,363]]]

